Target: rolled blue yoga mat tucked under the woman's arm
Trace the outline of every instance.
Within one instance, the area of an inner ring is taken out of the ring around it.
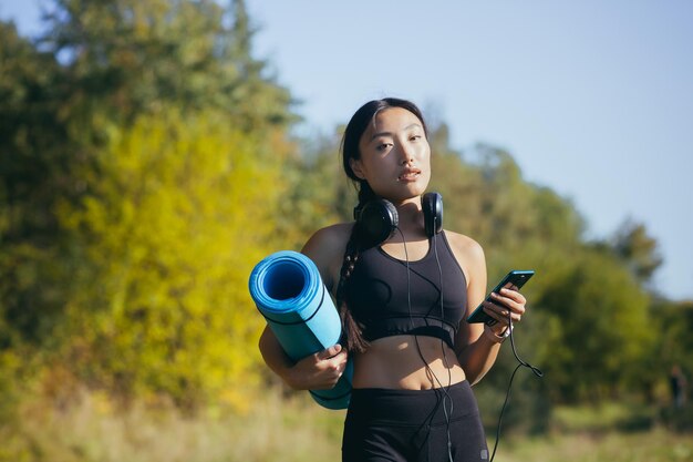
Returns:
[[[250,296],[294,361],[339,342],[342,324],[316,264],[303,254],[281,250],[262,259],[250,273]],[[334,388],[310,390],[328,409],[345,409],[351,397],[351,359]]]

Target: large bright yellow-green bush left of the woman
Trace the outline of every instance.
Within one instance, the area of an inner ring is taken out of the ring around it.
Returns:
[[[87,196],[60,211],[83,243],[70,367],[124,397],[240,404],[262,325],[247,280],[272,250],[281,160],[214,113],[142,117],[110,140]]]

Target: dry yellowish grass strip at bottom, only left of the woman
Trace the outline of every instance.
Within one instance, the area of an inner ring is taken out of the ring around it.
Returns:
[[[242,415],[190,418],[165,404],[115,411],[107,399],[90,393],[68,407],[39,400],[23,403],[13,422],[0,423],[0,461],[338,460],[339,412],[279,393],[249,408]]]

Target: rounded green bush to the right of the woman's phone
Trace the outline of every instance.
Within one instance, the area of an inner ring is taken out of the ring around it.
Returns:
[[[583,250],[535,300],[545,319],[542,363],[556,400],[591,400],[628,391],[652,350],[650,297],[609,253]],[[631,390],[632,391],[632,390]]]

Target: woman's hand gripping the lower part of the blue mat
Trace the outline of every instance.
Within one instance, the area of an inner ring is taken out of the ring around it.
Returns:
[[[298,361],[286,378],[296,390],[327,390],[333,388],[346,368],[346,350],[334,345]]]

